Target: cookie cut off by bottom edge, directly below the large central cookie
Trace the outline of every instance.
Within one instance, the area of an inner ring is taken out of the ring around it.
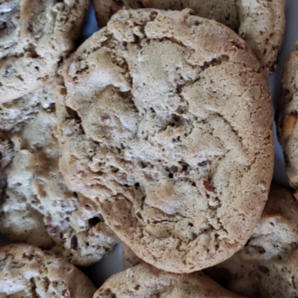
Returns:
[[[110,277],[93,298],[240,298],[203,273],[174,274],[140,264]]]

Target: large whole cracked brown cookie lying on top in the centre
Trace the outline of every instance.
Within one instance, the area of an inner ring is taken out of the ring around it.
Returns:
[[[273,171],[267,80],[232,30],[123,10],[65,64],[60,168],[146,262],[193,272],[242,247]]]

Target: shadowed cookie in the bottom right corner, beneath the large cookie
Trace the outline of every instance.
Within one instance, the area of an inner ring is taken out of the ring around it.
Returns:
[[[298,297],[298,202],[272,187],[263,215],[247,244],[205,273],[248,298]]]

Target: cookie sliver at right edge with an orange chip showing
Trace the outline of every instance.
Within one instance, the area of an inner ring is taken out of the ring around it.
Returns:
[[[283,74],[283,95],[277,103],[277,136],[284,149],[287,175],[298,199],[298,42],[296,51],[286,60]]]

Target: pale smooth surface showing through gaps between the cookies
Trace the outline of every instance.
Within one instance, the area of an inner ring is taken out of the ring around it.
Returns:
[[[286,34],[284,44],[281,49],[279,57],[279,66],[275,74],[269,77],[270,91],[272,101],[275,102],[281,92],[281,75],[283,65],[287,55],[295,50],[295,43],[298,40],[298,0],[286,0]],[[95,22],[94,10],[91,7],[88,11],[85,28],[82,33],[82,40],[89,37],[93,32],[97,31],[98,27]],[[286,187],[290,187],[285,171],[285,163],[283,157],[283,150],[276,140],[275,134],[275,165],[273,180]],[[5,244],[4,237],[0,235],[0,245]],[[122,260],[122,245],[119,244],[117,248],[102,259],[97,264],[86,270],[90,275],[96,286],[100,286],[112,274],[123,270]]]

